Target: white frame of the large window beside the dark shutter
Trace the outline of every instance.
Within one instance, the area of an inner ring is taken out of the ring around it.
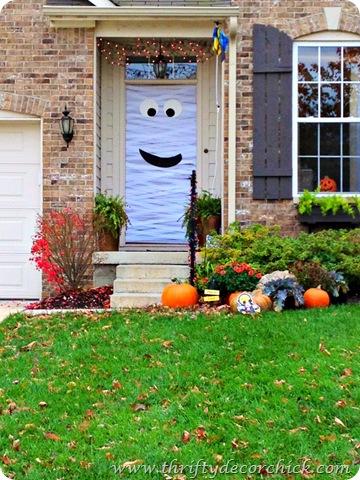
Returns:
[[[298,116],[298,49],[299,47],[359,47],[360,48],[360,37],[357,41],[349,41],[347,35],[344,33],[342,37],[341,32],[338,32],[336,41],[328,41],[327,38],[324,38],[323,35],[312,35],[312,39],[297,41],[293,44],[293,105],[292,105],[292,137],[293,137],[293,198],[295,202],[298,202],[299,199],[299,176],[298,176],[298,147],[299,147],[299,138],[298,138],[298,125],[299,123],[360,123],[360,117],[299,117]],[[341,80],[343,82],[343,79]],[[360,192],[336,192],[337,195],[342,195],[344,197],[351,197],[354,194],[359,194]],[[318,193],[318,196],[329,195],[329,193]]]

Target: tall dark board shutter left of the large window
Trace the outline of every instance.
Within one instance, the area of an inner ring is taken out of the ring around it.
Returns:
[[[253,197],[292,198],[292,39],[254,25]]]

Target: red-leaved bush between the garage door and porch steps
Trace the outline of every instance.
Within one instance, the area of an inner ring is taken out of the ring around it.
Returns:
[[[92,265],[97,240],[92,215],[70,207],[38,216],[31,258],[56,291],[80,290]]]

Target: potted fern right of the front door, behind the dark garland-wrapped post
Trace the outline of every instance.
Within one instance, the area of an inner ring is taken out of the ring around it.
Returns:
[[[221,222],[221,198],[213,196],[207,190],[202,190],[202,192],[196,197],[195,220],[199,245],[202,247],[205,245],[206,237],[210,232],[215,231],[219,233]],[[187,206],[184,214],[183,227],[186,227],[186,235],[189,236],[189,206]]]

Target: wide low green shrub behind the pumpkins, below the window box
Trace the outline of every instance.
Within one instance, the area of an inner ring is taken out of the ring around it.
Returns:
[[[241,228],[232,224],[223,235],[213,235],[201,250],[207,275],[217,265],[246,262],[263,274],[287,270],[297,261],[320,263],[327,271],[342,273],[351,291],[360,285],[360,229],[301,232],[286,237],[280,227],[253,225]],[[201,267],[197,272],[201,283]]]

